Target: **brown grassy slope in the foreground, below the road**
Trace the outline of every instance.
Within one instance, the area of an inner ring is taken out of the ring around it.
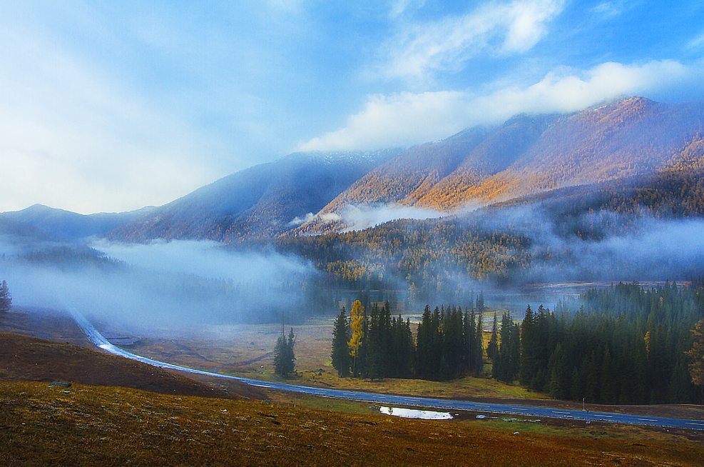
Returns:
[[[700,466],[691,443],[536,436],[133,389],[0,383],[6,466]]]

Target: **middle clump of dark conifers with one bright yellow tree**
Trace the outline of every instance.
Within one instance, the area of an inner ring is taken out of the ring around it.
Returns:
[[[481,311],[426,306],[414,338],[410,320],[392,317],[389,301],[369,306],[356,300],[349,317],[343,306],[335,319],[331,359],[340,376],[441,381],[481,373]]]

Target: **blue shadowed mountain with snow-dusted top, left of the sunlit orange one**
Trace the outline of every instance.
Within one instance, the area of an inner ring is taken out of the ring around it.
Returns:
[[[294,153],[237,172],[111,231],[119,241],[151,238],[239,241],[303,224],[400,149]]]

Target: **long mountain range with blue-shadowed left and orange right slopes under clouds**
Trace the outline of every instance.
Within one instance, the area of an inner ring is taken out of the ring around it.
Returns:
[[[350,205],[456,213],[651,176],[703,156],[704,101],[632,97],[571,114],[519,115],[404,150],[290,154],[215,181],[106,236],[232,242],[342,231],[350,228]]]

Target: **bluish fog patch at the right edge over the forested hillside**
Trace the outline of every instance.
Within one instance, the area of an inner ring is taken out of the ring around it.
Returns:
[[[688,281],[704,273],[702,219],[657,219],[647,211],[596,211],[576,219],[542,209],[507,214],[533,239],[534,264],[524,282]]]

